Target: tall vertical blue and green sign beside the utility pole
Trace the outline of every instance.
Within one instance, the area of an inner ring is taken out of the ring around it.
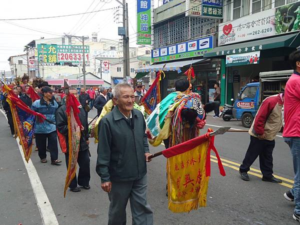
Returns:
[[[136,43],[151,45],[151,1],[137,0]]]

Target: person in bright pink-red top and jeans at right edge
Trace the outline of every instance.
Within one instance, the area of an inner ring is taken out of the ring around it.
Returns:
[[[294,69],[285,86],[284,130],[282,136],[288,144],[293,168],[293,187],[284,193],[285,199],[295,201],[292,217],[300,222],[300,50],[289,55],[289,62]]]

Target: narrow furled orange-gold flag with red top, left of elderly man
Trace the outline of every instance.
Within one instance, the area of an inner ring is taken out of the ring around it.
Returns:
[[[82,127],[79,120],[78,113],[79,108],[81,107],[79,101],[73,94],[67,94],[66,96],[66,115],[67,115],[67,126],[68,126],[68,165],[67,172],[65,177],[64,191],[63,196],[67,187],[75,176],[77,157],[79,151],[79,142],[80,142],[80,127]]]

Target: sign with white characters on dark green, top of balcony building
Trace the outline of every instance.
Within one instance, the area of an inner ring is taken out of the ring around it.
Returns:
[[[186,0],[185,16],[223,17],[223,0]]]

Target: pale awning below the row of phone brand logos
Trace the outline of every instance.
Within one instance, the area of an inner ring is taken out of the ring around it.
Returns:
[[[176,71],[178,70],[180,67],[184,66],[184,65],[189,65],[191,62],[194,64],[196,62],[199,62],[199,61],[202,61],[206,58],[200,58],[200,59],[193,59],[193,60],[184,60],[184,61],[172,61],[172,62],[163,62],[163,63],[159,63],[159,64],[155,64],[155,65],[149,65],[149,66],[146,66],[146,67],[143,67],[143,68],[138,68],[136,69],[136,76],[139,75],[138,73],[141,73],[141,72],[153,72],[153,71],[159,71],[162,69],[163,65],[165,65],[164,67],[164,71]],[[146,73],[146,74],[147,74]],[[135,78],[136,78],[135,76]]]

